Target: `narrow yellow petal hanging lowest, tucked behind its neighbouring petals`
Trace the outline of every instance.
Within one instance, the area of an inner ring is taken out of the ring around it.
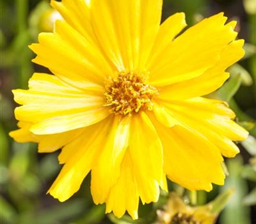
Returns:
[[[113,211],[115,216],[120,218],[127,210],[134,220],[138,219],[139,194],[134,172],[136,170],[132,169],[131,156],[127,152],[122,162],[120,177],[109,191],[106,212]]]

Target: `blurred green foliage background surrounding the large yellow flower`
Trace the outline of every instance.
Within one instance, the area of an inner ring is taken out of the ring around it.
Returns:
[[[117,0],[116,0],[117,1]],[[0,154],[0,223],[1,224],[99,224],[154,223],[156,210],[163,207],[166,195],[157,204],[140,206],[140,219],[127,216],[116,219],[104,214],[104,205],[94,205],[90,195],[90,177],[67,202],[58,202],[46,195],[60,171],[59,152],[38,154],[34,143],[16,143],[8,132],[17,128],[13,115],[15,103],[11,90],[28,88],[34,71],[47,68],[31,63],[35,57],[28,45],[36,42],[41,31],[51,31],[55,16],[49,1],[0,0],[1,46],[1,154]],[[246,56],[228,68],[230,79],[208,97],[227,100],[236,111],[237,122],[250,131],[250,138],[239,144],[241,154],[226,162],[229,175],[225,186],[214,186],[211,193],[199,191],[196,204],[211,201],[225,189],[234,195],[218,218],[219,224],[256,223],[256,141],[255,141],[255,81],[256,81],[256,1],[255,0],[164,0],[163,20],[175,12],[185,12],[189,26],[218,12],[229,20],[237,20],[239,38],[244,38]],[[170,184],[170,190],[179,186]],[[189,195],[184,191],[184,195]]]

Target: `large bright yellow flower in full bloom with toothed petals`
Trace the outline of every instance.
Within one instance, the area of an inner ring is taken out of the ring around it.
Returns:
[[[64,164],[49,193],[61,202],[91,172],[95,204],[138,218],[139,200],[156,202],[166,177],[185,188],[223,184],[223,156],[247,132],[225,102],[202,97],[244,55],[236,22],[223,13],[187,29],[184,13],[160,26],[161,0],[63,0],[64,20],[41,33],[29,90],[13,90],[16,141],[39,152],[61,148]]]

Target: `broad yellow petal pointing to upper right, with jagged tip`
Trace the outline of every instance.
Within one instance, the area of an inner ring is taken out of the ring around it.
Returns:
[[[166,86],[202,75],[216,65],[223,49],[236,38],[223,13],[204,19],[171,42],[148,65],[150,84]]]

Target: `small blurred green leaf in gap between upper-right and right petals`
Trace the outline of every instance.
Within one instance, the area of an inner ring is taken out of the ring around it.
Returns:
[[[218,90],[217,95],[221,100],[229,102],[236,94],[242,82],[241,74],[230,76],[228,81]]]

